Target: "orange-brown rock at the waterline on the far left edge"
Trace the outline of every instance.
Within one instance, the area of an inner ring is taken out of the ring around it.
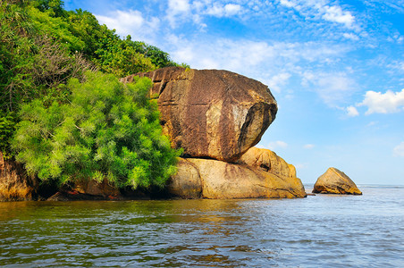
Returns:
[[[5,160],[0,152],[0,201],[33,200],[36,180],[29,178],[21,163]]]

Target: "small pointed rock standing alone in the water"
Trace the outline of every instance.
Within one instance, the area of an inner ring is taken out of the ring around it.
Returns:
[[[355,182],[350,180],[344,172],[333,167],[317,179],[313,193],[362,195]]]

